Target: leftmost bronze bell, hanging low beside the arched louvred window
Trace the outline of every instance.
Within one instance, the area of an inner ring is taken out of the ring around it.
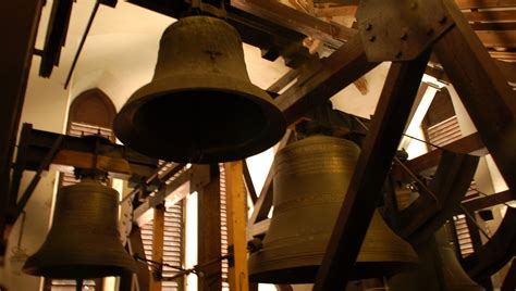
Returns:
[[[23,271],[50,278],[122,276],[136,271],[118,230],[118,192],[85,179],[58,193],[53,223]]]

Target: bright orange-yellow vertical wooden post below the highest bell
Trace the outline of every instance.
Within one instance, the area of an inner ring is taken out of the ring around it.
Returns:
[[[246,193],[243,179],[242,162],[224,164],[226,205],[228,205],[228,243],[233,249],[233,264],[230,264],[230,289],[248,291],[247,242],[246,242]]]

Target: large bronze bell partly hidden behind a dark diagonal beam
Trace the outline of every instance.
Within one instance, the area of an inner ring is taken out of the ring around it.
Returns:
[[[256,282],[314,282],[349,185],[359,148],[315,136],[280,151],[273,163],[274,212],[263,248],[249,257]],[[382,277],[417,255],[376,212],[351,279]]]

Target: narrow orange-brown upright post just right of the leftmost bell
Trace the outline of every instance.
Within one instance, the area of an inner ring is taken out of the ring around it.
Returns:
[[[155,207],[152,218],[152,261],[163,263],[164,205]],[[161,291],[161,281],[150,276],[150,291]]]

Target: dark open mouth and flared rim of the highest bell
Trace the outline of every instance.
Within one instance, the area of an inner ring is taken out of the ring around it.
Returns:
[[[160,91],[159,83],[164,80],[136,91],[114,119],[116,137],[145,155],[179,163],[236,161],[274,146],[286,129],[282,112],[258,87]]]

